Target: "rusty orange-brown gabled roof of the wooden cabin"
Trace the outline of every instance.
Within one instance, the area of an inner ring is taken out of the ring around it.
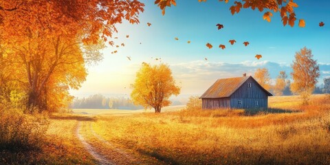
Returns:
[[[236,77],[236,78],[221,78],[218,79],[200,98],[228,98],[252,76]],[[254,78],[252,78],[254,80]],[[254,80],[259,85],[256,80]],[[261,87],[261,85],[259,85]],[[273,96],[269,91],[261,87],[268,96]]]

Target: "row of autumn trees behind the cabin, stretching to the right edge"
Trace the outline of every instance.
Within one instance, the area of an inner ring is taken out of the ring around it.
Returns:
[[[300,95],[304,104],[308,102],[311,94],[329,94],[330,78],[324,78],[323,84],[317,85],[320,77],[320,68],[311,50],[303,47],[296,52],[295,59],[291,65],[292,72],[289,76],[285,71],[280,71],[272,83],[267,68],[256,69],[254,78],[258,83],[275,96]],[[290,78],[289,78],[290,77]]]

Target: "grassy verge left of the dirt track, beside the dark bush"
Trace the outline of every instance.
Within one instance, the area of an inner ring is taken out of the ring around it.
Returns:
[[[58,115],[70,120],[48,119],[48,129],[39,139],[38,148],[2,148],[1,164],[95,164],[75,136],[76,124],[81,118],[73,115]]]

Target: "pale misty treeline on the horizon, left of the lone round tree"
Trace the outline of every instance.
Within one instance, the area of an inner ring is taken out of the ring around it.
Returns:
[[[76,98],[70,105],[72,109],[143,109],[133,104],[132,100],[124,97],[105,97],[101,94],[87,98]]]

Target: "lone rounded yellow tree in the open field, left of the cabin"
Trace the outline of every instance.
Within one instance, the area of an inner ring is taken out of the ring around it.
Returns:
[[[131,87],[133,103],[145,108],[153,107],[155,113],[160,113],[162,107],[170,105],[170,96],[180,93],[170,68],[164,64],[151,66],[143,63]]]

